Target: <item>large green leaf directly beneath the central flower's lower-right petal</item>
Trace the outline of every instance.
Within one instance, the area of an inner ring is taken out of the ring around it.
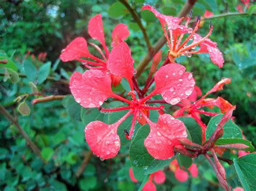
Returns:
[[[140,167],[144,169],[144,174],[151,174],[157,172],[159,169],[169,165],[175,158],[167,160],[158,160],[153,158],[144,146],[144,140],[149,135],[150,128],[146,124],[139,128],[136,136],[133,138],[130,146],[130,161],[133,167]],[[134,172],[135,175],[135,172]]]

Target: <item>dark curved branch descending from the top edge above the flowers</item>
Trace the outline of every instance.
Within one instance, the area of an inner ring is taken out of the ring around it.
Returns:
[[[144,36],[144,39],[146,41],[146,44],[147,44],[147,49],[148,51],[150,52],[151,51],[151,44],[150,44],[150,40],[149,40],[149,37],[147,36],[147,32],[146,32],[146,29],[144,28],[144,26],[142,25],[142,22],[137,14],[136,11],[134,11],[134,9],[132,9],[132,7],[130,6],[129,3],[127,3],[125,0],[119,0],[120,3],[122,3],[128,10],[129,12],[131,13],[132,17],[134,18],[134,20],[137,22],[137,24],[139,25],[140,27],[140,30],[142,30],[142,33],[143,33],[143,36]]]

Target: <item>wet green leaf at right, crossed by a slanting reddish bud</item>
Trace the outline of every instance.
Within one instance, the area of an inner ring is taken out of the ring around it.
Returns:
[[[220,122],[221,117],[223,117],[223,114],[211,118],[210,122],[207,125],[205,133],[206,140],[211,137],[212,133],[217,128],[217,125]],[[237,125],[235,125],[231,119],[228,120],[228,122],[223,126],[223,128],[224,135],[221,138],[242,138],[242,132],[240,128]]]

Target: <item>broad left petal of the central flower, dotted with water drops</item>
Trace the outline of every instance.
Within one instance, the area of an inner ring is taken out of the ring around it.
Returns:
[[[73,73],[70,90],[76,102],[85,108],[99,107],[113,94],[110,76],[96,69]]]

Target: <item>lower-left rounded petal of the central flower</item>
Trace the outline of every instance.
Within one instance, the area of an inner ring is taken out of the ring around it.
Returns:
[[[94,154],[102,159],[117,155],[120,150],[117,128],[118,124],[107,125],[100,121],[91,122],[86,126],[85,139]]]

